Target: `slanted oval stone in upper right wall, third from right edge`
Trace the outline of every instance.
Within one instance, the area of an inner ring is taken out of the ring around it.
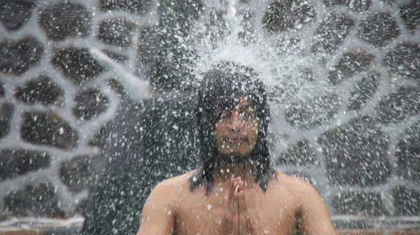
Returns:
[[[332,13],[321,22],[312,38],[312,52],[315,54],[326,53],[336,50],[349,36],[355,21],[353,18]]]

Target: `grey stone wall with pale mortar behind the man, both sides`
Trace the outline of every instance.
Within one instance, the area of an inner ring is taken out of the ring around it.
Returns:
[[[316,66],[302,78],[316,83],[321,74],[337,91],[349,87],[309,101],[279,101],[281,90],[272,94],[272,107],[283,108],[270,137],[276,169],[313,183],[332,215],[420,215],[418,1],[257,2],[239,4],[245,15],[260,16],[255,25],[266,34],[311,35],[300,53],[315,58]],[[174,30],[188,34],[207,4],[1,3],[3,218],[83,214],[107,161],[100,154],[109,137],[104,133],[119,121],[113,118],[122,94],[88,48],[103,50],[158,91],[179,90],[193,75]]]

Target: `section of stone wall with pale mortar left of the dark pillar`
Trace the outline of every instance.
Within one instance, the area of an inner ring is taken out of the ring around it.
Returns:
[[[153,3],[153,6],[152,6]],[[88,48],[135,73],[152,1],[2,1],[0,208],[10,216],[81,213],[104,128],[120,105],[112,74]],[[148,43],[148,41],[146,41]]]

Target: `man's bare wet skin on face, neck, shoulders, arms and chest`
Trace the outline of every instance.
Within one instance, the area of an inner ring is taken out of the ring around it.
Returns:
[[[258,120],[241,97],[231,111],[221,111],[214,138],[227,161],[214,176],[213,191],[204,185],[190,192],[194,171],[155,187],[143,209],[141,234],[292,234],[300,218],[302,234],[336,234],[318,192],[305,180],[276,172],[266,192],[255,183],[246,155],[255,148]]]

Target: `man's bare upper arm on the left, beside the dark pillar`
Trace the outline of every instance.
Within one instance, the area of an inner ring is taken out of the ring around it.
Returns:
[[[174,234],[176,208],[170,197],[171,192],[165,181],[151,192],[143,207],[137,235]]]

